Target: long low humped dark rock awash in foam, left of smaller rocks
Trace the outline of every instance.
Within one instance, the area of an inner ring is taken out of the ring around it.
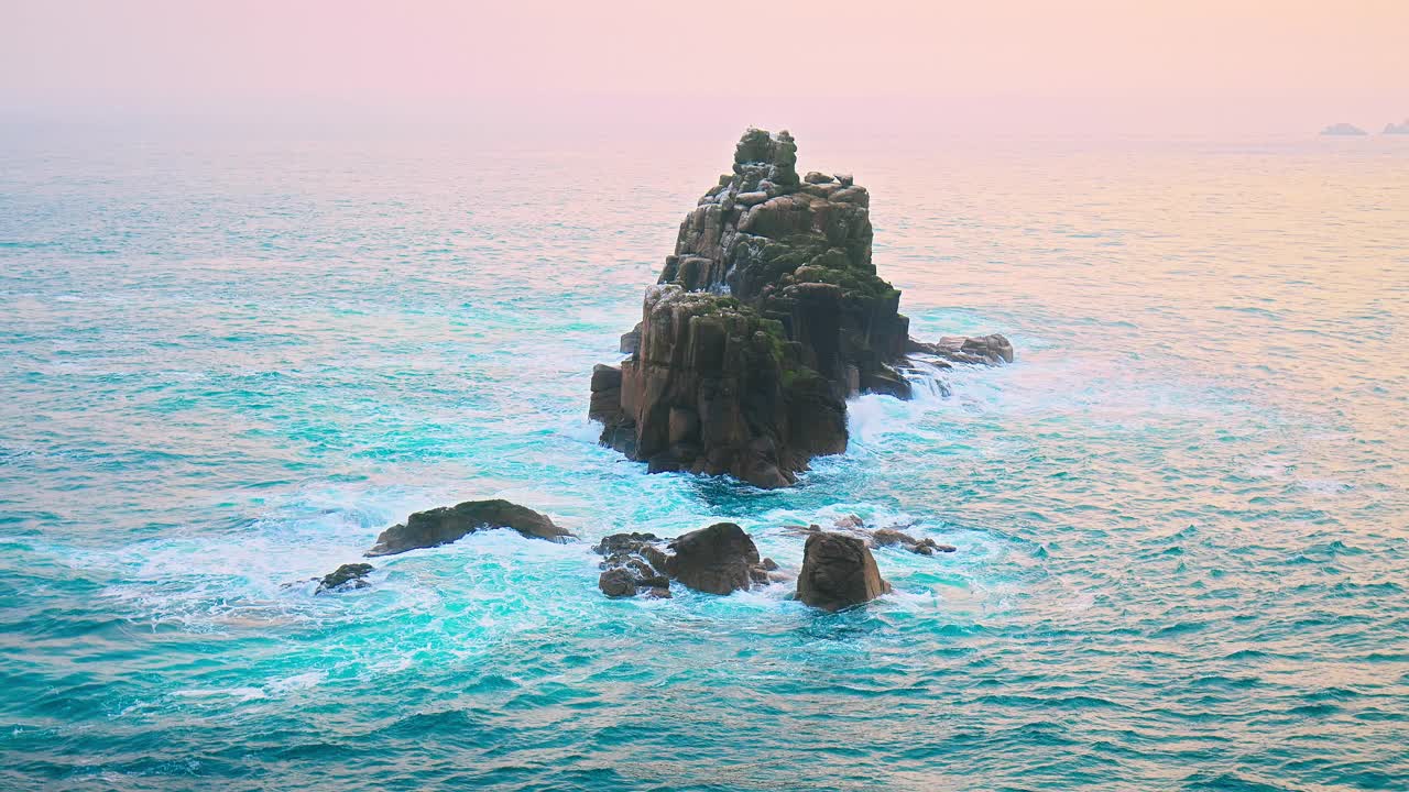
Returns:
[[[449,544],[468,534],[490,528],[513,528],[528,538],[564,543],[572,537],[544,514],[507,500],[466,500],[458,506],[441,506],[417,512],[404,524],[392,526],[376,537],[376,544],[364,555],[396,555],[423,547]]]

